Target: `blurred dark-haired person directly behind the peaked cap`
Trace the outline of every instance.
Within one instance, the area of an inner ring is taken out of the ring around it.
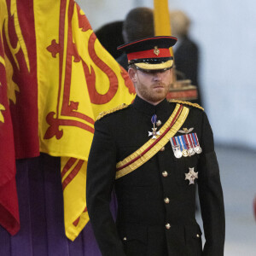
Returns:
[[[154,37],[153,9],[146,7],[131,9],[125,16],[122,33],[125,44],[141,38]],[[125,70],[128,70],[128,60],[125,53],[120,55],[116,61],[118,61]]]

